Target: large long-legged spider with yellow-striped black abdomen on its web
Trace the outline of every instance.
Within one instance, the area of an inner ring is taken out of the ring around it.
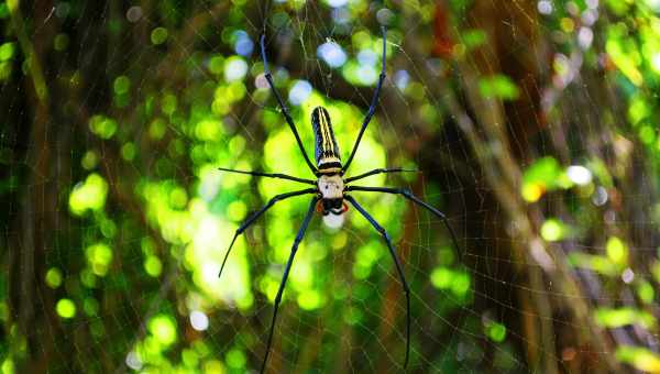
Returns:
[[[394,264],[396,266],[396,271],[398,273],[398,277],[399,277],[399,280],[404,288],[404,294],[406,297],[406,356],[404,360],[404,369],[406,369],[408,365],[408,356],[410,353],[410,289],[408,287],[408,282],[406,280],[406,275],[404,274],[404,268],[403,268],[402,263],[396,254],[396,251],[394,250],[394,245],[392,244],[392,240],[391,240],[389,235],[387,234],[387,231],[385,231],[385,229],[383,229],[383,227],[348,193],[365,191],[365,193],[395,194],[395,195],[403,196],[404,198],[413,201],[414,204],[421,206],[422,208],[429,210],[432,215],[440,218],[442,220],[442,222],[444,223],[444,226],[447,227],[447,230],[449,231],[449,233],[451,235],[451,240],[452,240],[453,244],[455,245],[457,249],[459,249],[457,237],[455,237],[451,226],[449,224],[444,213],[442,213],[438,209],[433,208],[429,204],[422,201],[420,198],[413,195],[409,190],[404,189],[404,188],[349,186],[349,184],[351,184],[355,180],[360,180],[360,179],[366,178],[372,175],[386,174],[386,173],[410,172],[410,170],[406,170],[400,167],[376,168],[376,169],[373,169],[373,170],[370,170],[370,172],[366,172],[366,173],[363,173],[363,174],[360,174],[356,176],[344,178],[344,174],[349,169],[349,166],[351,165],[351,162],[353,161],[353,157],[355,156],[355,152],[358,152],[358,146],[360,145],[362,135],[364,134],[364,131],[366,130],[367,124],[370,123],[372,117],[374,116],[376,106],[378,103],[378,96],[381,92],[381,88],[382,88],[383,81],[385,80],[385,77],[386,77],[386,75],[385,75],[385,52],[386,52],[387,34],[386,34],[385,28],[382,28],[382,33],[383,33],[383,57],[382,57],[383,61],[382,61],[381,74],[378,76],[378,82],[377,82],[376,89],[373,94],[371,105],[369,107],[369,111],[366,112],[366,116],[364,117],[364,120],[362,122],[362,127],[360,128],[360,132],[358,133],[358,139],[355,140],[355,144],[353,145],[353,150],[351,151],[351,154],[350,154],[348,161],[345,162],[345,164],[342,164],[342,162],[341,162],[339,146],[337,145],[337,141],[334,139],[334,133],[332,131],[332,123],[330,122],[330,116],[329,116],[328,111],[323,107],[317,107],[314,109],[312,114],[311,114],[311,124],[312,124],[315,140],[316,140],[316,144],[315,144],[316,165],[312,164],[311,161],[309,160],[307,152],[305,151],[305,146],[302,145],[302,142],[300,141],[300,136],[298,135],[298,131],[296,130],[296,125],[294,124],[292,116],[289,114],[289,111],[288,111],[286,105],[282,100],[282,97],[279,96],[279,94],[277,92],[277,89],[275,88],[275,86],[273,84],[273,77],[268,69],[268,63],[266,59],[266,52],[265,52],[265,47],[264,47],[265,34],[261,35],[261,41],[260,41],[261,56],[262,56],[262,59],[264,63],[265,78],[268,81],[268,86],[271,87],[271,90],[273,91],[275,99],[277,100],[277,103],[282,110],[282,113],[284,114],[284,119],[286,120],[286,123],[288,123],[288,127],[290,128],[292,132],[294,133],[294,136],[296,138],[296,142],[298,143],[298,147],[300,150],[300,153],[302,154],[302,157],[305,157],[305,162],[309,166],[309,169],[317,177],[316,180],[312,180],[312,179],[299,178],[299,177],[295,177],[295,176],[290,176],[290,175],[286,175],[286,174],[245,172],[245,170],[237,170],[237,169],[222,168],[222,167],[219,168],[222,172],[248,174],[248,175],[253,175],[253,176],[258,176],[258,177],[267,177],[267,178],[288,179],[288,180],[315,186],[312,188],[307,188],[307,189],[302,189],[302,190],[277,195],[277,196],[273,197],[263,208],[261,208],[260,210],[254,212],[252,216],[250,216],[237,229],[237,231],[233,235],[233,239],[231,240],[231,244],[229,245],[229,249],[227,250],[227,253],[224,254],[224,258],[223,258],[222,265],[220,267],[220,274],[218,275],[219,277],[222,275],[222,270],[224,268],[224,264],[227,263],[227,258],[229,257],[229,254],[231,252],[231,249],[233,248],[233,244],[234,244],[237,238],[241,233],[243,233],[252,223],[254,223],[254,221],[257,218],[260,218],[266,210],[268,210],[271,207],[273,207],[275,205],[275,202],[282,201],[282,200],[285,200],[285,199],[288,199],[292,197],[296,197],[296,196],[314,195],[314,197],[311,198],[311,201],[309,202],[309,208],[307,209],[305,219],[302,220],[302,224],[300,226],[300,228],[298,230],[298,234],[296,235],[296,239],[294,240],[294,244],[293,244],[288,261],[286,263],[286,267],[284,268],[282,282],[279,283],[279,288],[277,289],[277,295],[275,296],[273,319],[271,320],[268,340],[266,343],[266,351],[264,353],[264,359],[262,361],[261,373],[263,373],[266,367],[266,362],[268,360],[268,353],[271,352],[271,344],[273,341],[273,330],[275,328],[275,321],[277,319],[277,310],[279,308],[279,302],[282,301],[282,294],[284,293],[286,280],[288,278],[289,272],[292,270],[292,265],[294,263],[294,257],[296,256],[296,252],[298,251],[298,244],[300,243],[300,241],[302,241],[302,238],[305,237],[305,231],[307,230],[307,227],[309,226],[309,221],[311,220],[311,218],[315,213],[315,210],[318,211],[319,213],[321,213],[323,216],[324,220],[328,219],[327,223],[338,226],[338,224],[341,224],[341,222],[343,222],[344,213],[349,209],[349,206],[345,204],[345,201],[348,201],[383,237],[385,244],[387,245],[387,249],[389,250],[389,254],[392,255],[392,260],[394,261]]]

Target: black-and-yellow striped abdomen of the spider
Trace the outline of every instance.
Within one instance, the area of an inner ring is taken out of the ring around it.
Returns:
[[[315,108],[311,112],[311,125],[316,139],[316,161],[319,172],[324,174],[341,172],[339,146],[326,108]]]

